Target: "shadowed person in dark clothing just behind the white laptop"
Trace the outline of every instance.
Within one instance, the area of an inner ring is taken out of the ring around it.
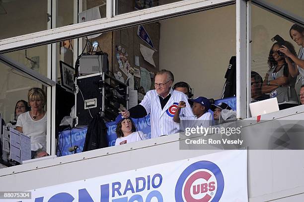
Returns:
[[[251,71],[251,102],[269,99],[269,95],[262,94],[262,85],[262,77],[258,73]]]

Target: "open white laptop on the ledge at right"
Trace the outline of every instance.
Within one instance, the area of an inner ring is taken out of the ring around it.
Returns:
[[[258,116],[274,111],[279,111],[277,98],[271,98],[264,101],[257,101],[249,104],[251,116]]]

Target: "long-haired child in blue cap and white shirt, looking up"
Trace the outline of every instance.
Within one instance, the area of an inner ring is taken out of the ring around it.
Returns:
[[[136,126],[131,118],[123,118],[121,115],[116,117],[116,134],[117,139],[115,145],[127,144],[148,139],[147,135],[142,131],[137,131]]]

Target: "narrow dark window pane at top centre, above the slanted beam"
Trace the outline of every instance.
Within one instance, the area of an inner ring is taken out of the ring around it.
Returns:
[[[181,0],[132,0],[131,3],[130,0],[116,0],[116,14],[142,10],[177,1]]]

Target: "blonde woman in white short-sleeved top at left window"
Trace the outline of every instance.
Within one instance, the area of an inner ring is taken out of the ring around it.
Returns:
[[[44,110],[46,94],[40,88],[28,91],[30,111],[21,113],[17,119],[16,130],[31,137],[32,157],[37,149],[46,150],[47,113]]]

